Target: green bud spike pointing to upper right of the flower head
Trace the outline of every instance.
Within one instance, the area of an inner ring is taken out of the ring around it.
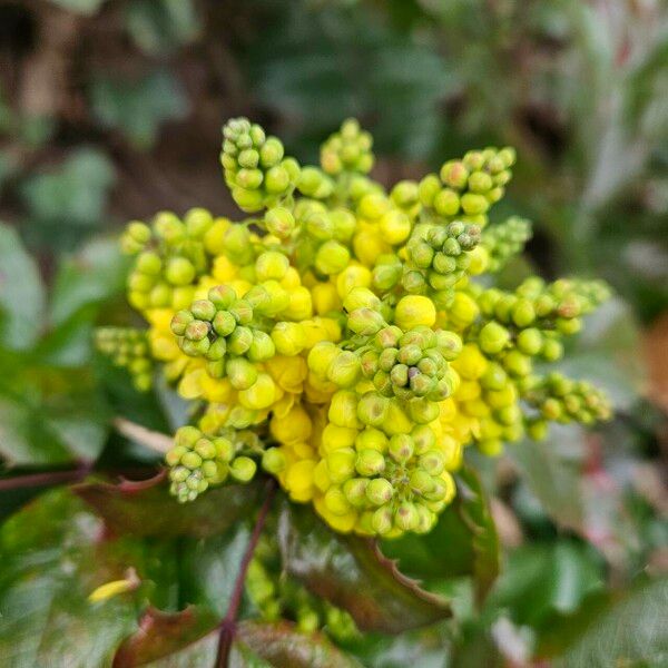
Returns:
[[[430,174],[420,181],[420,202],[438,217],[484,226],[490,206],[503,197],[514,161],[512,148],[469,151],[461,160],[443,164],[439,176]]]

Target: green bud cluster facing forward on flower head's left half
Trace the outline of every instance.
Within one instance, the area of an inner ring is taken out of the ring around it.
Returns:
[[[191,357],[205,357],[209,375],[228,377],[235,390],[253,386],[258,376],[254,363],[276,354],[272,337],[253,326],[255,310],[266,311],[272,304],[269,293],[256,287],[239,299],[230,286],[217,285],[207,299],[193,302],[171,318],[171,332],[180,350]]]

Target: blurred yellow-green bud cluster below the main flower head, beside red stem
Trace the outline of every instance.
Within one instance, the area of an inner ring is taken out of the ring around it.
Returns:
[[[346,642],[358,637],[353,618],[283,572],[276,540],[263,534],[248,566],[246,592],[262,619],[294,620],[304,633],[323,630],[334,640]]]

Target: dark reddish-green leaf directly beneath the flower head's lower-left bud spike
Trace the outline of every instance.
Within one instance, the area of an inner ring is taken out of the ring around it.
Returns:
[[[208,490],[190,503],[169,494],[165,473],[143,482],[89,482],[75,491],[118,534],[193,536],[222,533],[257,505],[262,482],[230,484]]]

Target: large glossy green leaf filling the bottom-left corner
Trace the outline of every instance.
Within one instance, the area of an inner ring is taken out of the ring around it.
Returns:
[[[3,666],[110,664],[116,646],[136,628],[140,595],[88,601],[94,589],[124,578],[126,571],[127,546],[100,542],[100,532],[99,520],[62,490],[42,497],[2,527]]]

